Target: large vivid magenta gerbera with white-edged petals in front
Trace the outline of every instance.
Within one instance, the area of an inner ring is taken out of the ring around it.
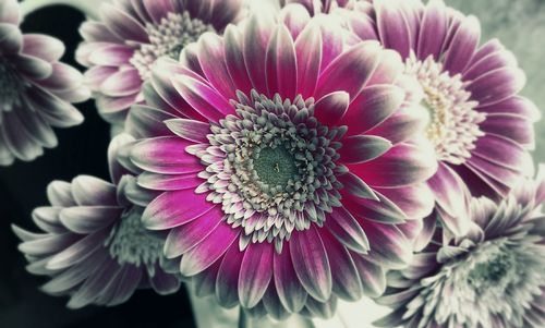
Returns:
[[[301,12],[255,15],[159,60],[144,90],[156,109],[126,125],[157,136],[131,159],[161,192],[143,221],[169,232],[166,256],[198,293],[275,318],[380,294],[384,270],[411,258],[437,168],[399,56],[349,47],[336,20]]]

